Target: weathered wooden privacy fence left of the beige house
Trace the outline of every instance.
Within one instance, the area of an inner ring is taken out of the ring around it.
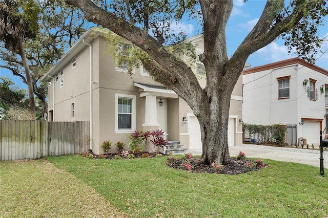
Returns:
[[[89,148],[89,121],[0,121],[0,161],[78,154]]]

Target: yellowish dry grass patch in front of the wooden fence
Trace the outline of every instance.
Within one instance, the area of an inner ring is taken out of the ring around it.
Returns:
[[[0,188],[0,217],[122,217],[93,188],[44,160],[0,162]]]

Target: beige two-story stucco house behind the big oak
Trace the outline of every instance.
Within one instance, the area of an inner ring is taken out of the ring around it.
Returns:
[[[115,64],[104,31],[89,29],[42,78],[50,82],[48,120],[90,121],[90,147],[95,154],[103,153],[100,145],[105,140],[128,144],[127,135],[135,129],[161,128],[167,140],[180,141],[189,149],[201,148],[199,123],[189,105],[155,82],[142,66],[130,75],[124,64]],[[202,35],[189,40],[202,50]],[[241,79],[231,96],[230,146],[242,144]]]

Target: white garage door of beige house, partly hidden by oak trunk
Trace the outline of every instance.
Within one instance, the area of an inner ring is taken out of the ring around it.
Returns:
[[[188,120],[189,149],[201,149],[200,126],[196,117],[190,116]],[[228,145],[234,146],[234,118],[229,118]]]

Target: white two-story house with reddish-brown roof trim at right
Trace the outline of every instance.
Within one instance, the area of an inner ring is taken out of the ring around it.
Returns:
[[[242,119],[250,124],[284,124],[287,142],[320,143],[328,112],[328,71],[300,58],[244,70]],[[324,135],[323,135],[324,137]]]

